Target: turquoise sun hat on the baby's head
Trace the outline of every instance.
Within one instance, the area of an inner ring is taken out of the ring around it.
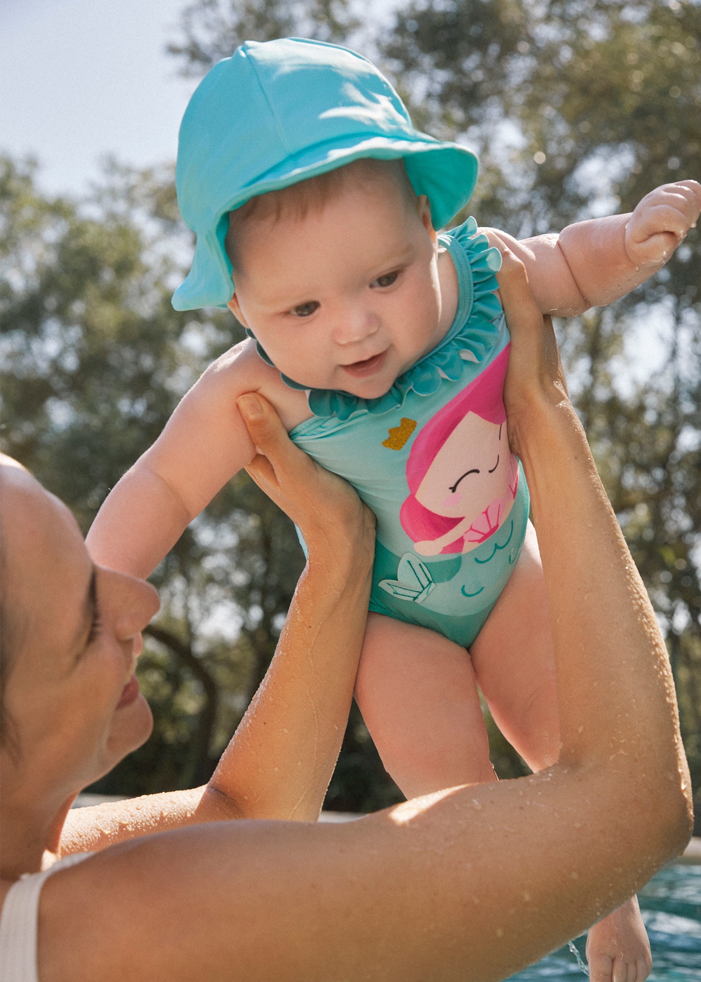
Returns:
[[[348,48],[297,37],[246,41],[215,65],[180,129],[178,203],[196,245],[176,310],[226,306],[234,296],[224,247],[230,211],[359,157],[403,158],[436,229],[477,180],[475,154],[415,130],[390,83]]]

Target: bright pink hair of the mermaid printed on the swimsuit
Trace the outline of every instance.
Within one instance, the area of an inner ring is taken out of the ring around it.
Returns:
[[[416,492],[439,450],[468,412],[474,412],[498,426],[506,422],[504,380],[507,377],[509,349],[507,345],[477,378],[458,392],[443,409],[439,409],[414,440],[406,462],[406,483],[411,494],[404,500],[400,511],[402,527],[412,542],[440,538],[459,524],[460,518],[448,518],[431,512],[418,501]],[[441,553],[461,551],[462,537],[447,545]]]

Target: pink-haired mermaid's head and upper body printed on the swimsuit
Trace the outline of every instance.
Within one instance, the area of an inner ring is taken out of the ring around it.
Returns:
[[[422,427],[406,462],[400,519],[420,556],[466,553],[506,521],[518,487],[504,380],[509,346]]]

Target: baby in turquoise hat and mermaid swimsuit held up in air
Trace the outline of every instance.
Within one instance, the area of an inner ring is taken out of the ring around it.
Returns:
[[[533,769],[559,753],[547,600],[502,398],[500,246],[543,311],[572,315],[647,279],[701,208],[687,181],[559,237],[519,243],[473,219],[438,234],[476,171],[465,147],[417,133],[344,48],[247,42],[216,65],[181,129],[197,243],[173,302],[228,305],[250,340],[193,386],[87,539],[96,561],[151,573],[252,459],[237,400],[264,396],[377,516],[356,698],[407,795],[496,780],[477,686]],[[589,955],[608,977],[617,957],[649,971],[634,900],[592,929]]]

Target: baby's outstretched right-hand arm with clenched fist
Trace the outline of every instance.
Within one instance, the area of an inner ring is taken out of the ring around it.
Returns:
[[[573,316],[619,300],[670,258],[696,224],[701,185],[678,181],[646,194],[626,215],[568,225],[560,235],[518,242],[485,230],[492,244],[508,246],[523,262],[544,313]]]

